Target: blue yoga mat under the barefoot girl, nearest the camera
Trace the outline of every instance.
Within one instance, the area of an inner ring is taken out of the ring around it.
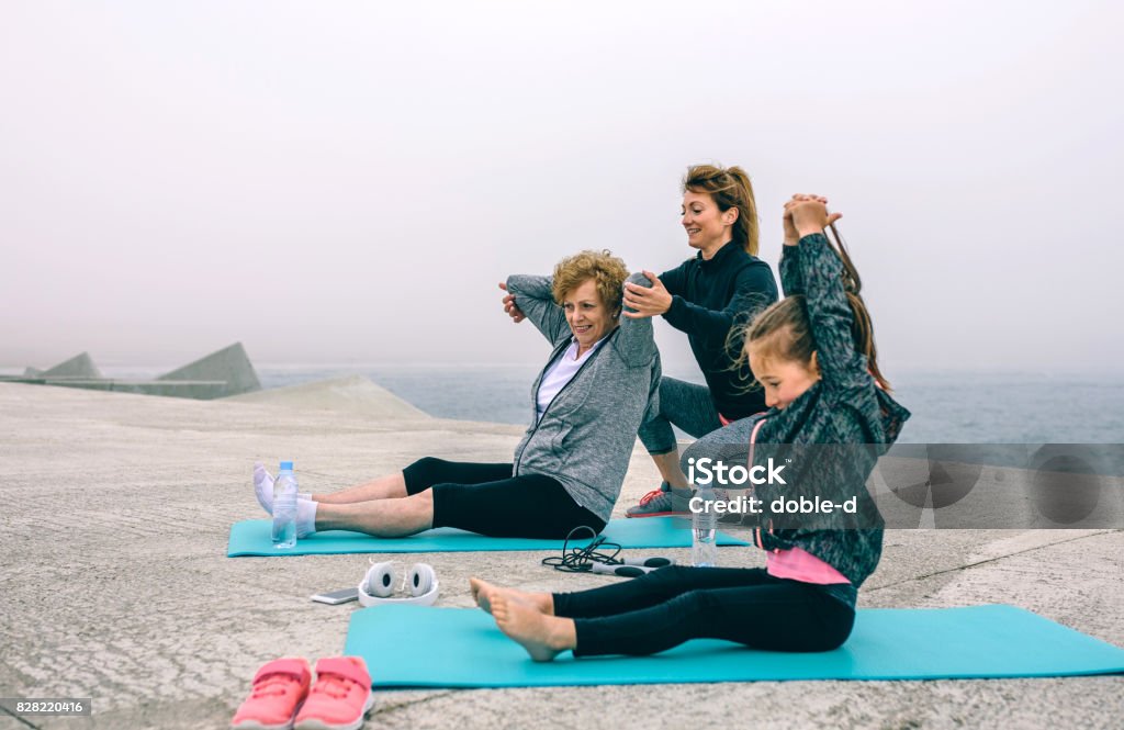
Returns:
[[[846,643],[822,654],[696,639],[651,657],[565,652],[549,664],[532,661],[483,611],[384,605],[352,614],[344,654],[366,660],[377,688],[1124,673],[1124,649],[1005,605],[861,610]]]

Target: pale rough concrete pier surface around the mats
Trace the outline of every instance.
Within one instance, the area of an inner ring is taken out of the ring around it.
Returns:
[[[263,516],[253,461],[293,459],[303,490],[332,490],[423,456],[509,460],[522,431],[430,418],[362,389],[364,408],[333,409],[308,394],[188,400],[0,384],[0,696],[93,706],[92,718],[0,713],[0,728],[224,728],[264,661],[339,654],[357,604],[308,596],[355,585],[368,556],[228,559],[230,524]],[[637,448],[617,515],[656,483]],[[398,557],[436,568],[444,606],[471,605],[473,575],[525,589],[616,580],[555,573],[544,555]],[[763,565],[750,549],[722,560]],[[982,603],[1124,646],[1124,532],[890,531],[860,593],[863,607]],[[454,726],[1120,728],[1124,676],[395,691],[378,694],[365,727]]]

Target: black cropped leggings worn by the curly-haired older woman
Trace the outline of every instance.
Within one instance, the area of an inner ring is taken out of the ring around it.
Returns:
[[[408,494],[433,489],[435,528],[545,540],[563,540],[583,525],[595,532],[605,529],[605,521],[579,506],[556,479],[538,474],[513,477],[511,469],[510,463],[426,457],[402,469],[402,476]]]

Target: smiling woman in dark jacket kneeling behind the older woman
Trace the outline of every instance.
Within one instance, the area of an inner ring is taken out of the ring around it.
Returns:
[[[761,391],[747,387],[750,372],[738,357],[745,323],[777,301],[772,271],[756,258],[758,211],[750,178],[737,166],[696,165],[688,169],[682,191],[681,223],[698,253],[659,277],[645,271],[652,286],[626,287],[625,304],[636,309],[632,316],[662,315],[687,333],[706,385],[660,381],[660,411],[638,435],[663,481],[628,508],[629,517],[688,511],[690,489],[672,425],[716,445],[741,444],[749,431],[738,422],[765,409]]]

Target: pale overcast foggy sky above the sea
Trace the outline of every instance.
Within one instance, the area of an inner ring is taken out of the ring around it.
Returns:
[[[921,7],[924,4],[925,7]],[[883,370],[1120,370],[1115,2],[0,4],[0,366],[528,362],[496,283],[818,192]],[[656,326],[669,364],[686,339]]]

